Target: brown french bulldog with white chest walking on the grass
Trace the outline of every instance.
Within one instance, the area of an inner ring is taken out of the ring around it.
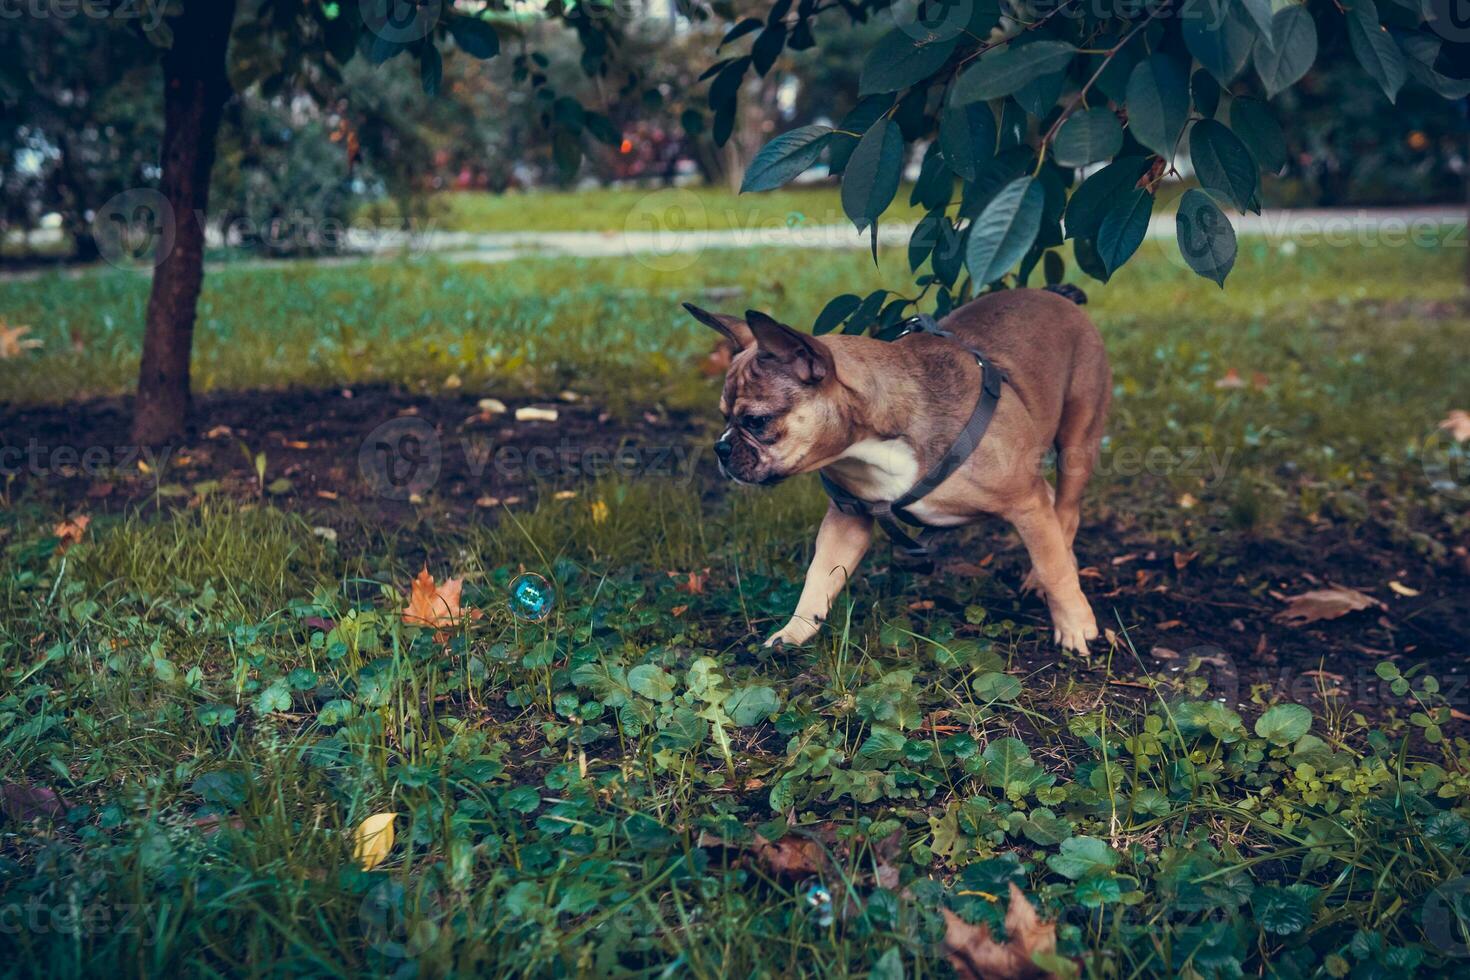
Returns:
[[[1001,367],[1007,383],[979,447],[907,510],[936,527],[1008,520],[1030,555],[1023,591],[1045,598],[1054,642],[1086,654],[1098,627],[1073,539],[1113,381],[1101,335],[1072,300],[1045,289],[988,292],[939,322],[953,339],[914,332],[892,342],[813,336],[756,310],[739,319],[685,309],[736,351],[714,453],[738,483],[769,486],[820,470],[863,501],[894,501],[945,454],[975,408],[982,370],[964,348]],[[1051,448],[1055,488],[1042,464]],[[817,633],[872,536],[870,516],[828,505],[801,598],[767,646]]]

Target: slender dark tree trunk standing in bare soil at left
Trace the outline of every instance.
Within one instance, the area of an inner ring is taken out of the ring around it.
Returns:
[[[190,348],[204,281],[204,222],[215,138],[229,98],[225,54],[235,0],[185,0],[163,56],[163,154],[159,191],[172,209],[173,242],[154,256],[132,438],[162,445],[184,436]],[[168,215],[163,216],[168,220]],[[165,247],[165,237],[159,247]]]

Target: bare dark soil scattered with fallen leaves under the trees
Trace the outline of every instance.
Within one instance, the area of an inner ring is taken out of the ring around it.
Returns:
[[[504,407],[485,411],[472,395],[382,386],[210,394],[197,403],[187,445],[151,455],[126,448],[126,400],[0,408],[0,464],[10,500],[90,513],[182,505],[200,485],[312,513],[348,508],[378,522],[409,520],[428,492],[467,520],[494,520],[501,504],[532,505],[538,494],[603,473],[692,475],[701,494],[725,492],[709,451],[711,419],[648,413],[628,420],[585,400]],[[556,422],[516,420],[516,410],[528,407],[554,410]],[[257,454],[265,454],[263,480]],[[994,522],[941,541],[950,585],[972,577],[992,616],[1045,626],[1042,604],[1016,592],[1028,563],[1014,532]],[[888,555],[876,547],[867,567],[882,569]],[[1080,669],[1126,688],[1126,677],[1144,669],[1179,674],[1198,658],[1227,701],[1247,702],[1264,685],[1304,704],[1326,699],[1374,716],[1404,705],[1374,674],[1379,661],[1395,658],[1404,667],[1427,663],[1449,705],[1470,713],[1470,569],[1463,558],[1427,563],[1372,519],[1220,532],[1211,554],[1200,555],[1116,508],[1101,520],[1085,514],[1078,558],[1100,624],[1126,629],[1141,663],[1126,649],[1111,666],[1098,654],[1091,664],[1058,660],[1038,639],[1023,651],[1038,682]],[[1413,583],[1417,595],[1391,591],[1389,582]],[[1361,589],[1380,605],[1305,627],[1277,620],[1288,597],[1330,583]],[[944,589],[954,591],[964,594],[963,586]],[[953,598],[932,601],[936,613],[963,614]]]

